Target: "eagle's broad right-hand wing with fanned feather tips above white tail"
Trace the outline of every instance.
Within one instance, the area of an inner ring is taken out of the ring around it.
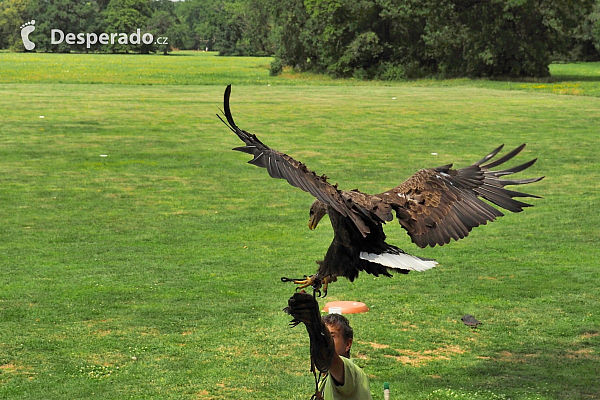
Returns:
[[[474,227],[504,215],[482,198],[512,212],[520,212],[524,207],[531,206],[515,200],[515,197],[539,198],[504,187],[533,183],[544,177],[500,179],[529,168],[537,159],[509,169],[491,170],[519,154],[525,144],[496,161],[484,164],[496,156],[503,146],[473,165],[458,170],[452,169],[452,164],[422,169],[404,183],[376,196],[392,205],[400,224],[419,247],[441,246],[449,243],[450,239],[462,239]]]

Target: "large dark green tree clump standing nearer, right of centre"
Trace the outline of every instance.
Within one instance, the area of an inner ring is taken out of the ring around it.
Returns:
[[[594,0],[284,0],[281,64],[335,76],[547,76]],[[303,34],[290,36],[302,26]],[[286,32],[287,30],[287,32]],[[293,41],[290,43],[289,41]],[[306,59],[306,61],[303,61]]]

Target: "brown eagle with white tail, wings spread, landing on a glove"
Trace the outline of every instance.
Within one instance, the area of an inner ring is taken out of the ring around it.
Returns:
[[[433,259],[410,255],[386,243],[383,225],[392,221],[394,214],[412,242],[425,248],[462,239],[473,228],[504,215],[489,203],[516,213],[531,204],[515,198],[540,198],[505,186],[538,182],[543,176],[500,179],[529,168],[537,158],[516,167],[493,170],[519,154],[525,144],[494,161],[491,160],[503,145],[468,167],[453,169],[452,164],[448,164],[421,169],[398,186],[378,194],[357,189],[340,190],[337,184],[328,182],[327,176],[317,175],[302,162],[270,148],[256,135],[240,129],[231,115],[230,95],[231,85],[225,89],[224,109],[221,110],[225,119],[218,114],[217,117],[244,142],[244,146],[233,150],[252,155],[250,164],[265,168],[272,178],[285,179],[315,197],[308,223],[311,230],[326,214],[333,227],[333,241],[324,259],[317,261],[315,274],[300,279],[281,278],[284,282],[299,285],[298,289],[312,287],[318,295],[323,289],[327,295],[329,283],[338,277],[354,281],[361,271],[375,276],[392,276],[390,272],[407,274],[435,267],[438,263]]]

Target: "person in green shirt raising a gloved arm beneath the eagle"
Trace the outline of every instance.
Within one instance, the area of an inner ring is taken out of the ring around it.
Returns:
[[[311,370],[324,373],[313,398],[324,400],[372,400],[369,380],[350,360],[354,333],[346,317],[329,314],[321,318],[314,296],[295,293],[284,309],[294,319],[292,326],[304,323],[310,338]]]

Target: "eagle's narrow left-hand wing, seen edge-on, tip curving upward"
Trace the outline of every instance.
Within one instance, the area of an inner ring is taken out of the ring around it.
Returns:
[[[223,114],[227,121],[223,120],[218,114],[217,117],[246,144],[245,146],[236,147],[233,150],[251,154],[254,158],[249,161],[250,164],[266,168],[272,178],[285,179],[290,185],[312,194],[323,203],[333,207],[343,216],[351,218],[363,236],[369,233],[369,228],[356,212],[351,209],[351,202],[342,197],[342,193],[337,189],[337,185],[334,186],[327,182],[325,175],[318,176],[309,170],[305,164],[294,160],[287,154],[271,149],[261,142],[256,135],[238,128],[229,108],[230,95],[231,85],[228,85],[227,89],[225,89],[223,99]]]

